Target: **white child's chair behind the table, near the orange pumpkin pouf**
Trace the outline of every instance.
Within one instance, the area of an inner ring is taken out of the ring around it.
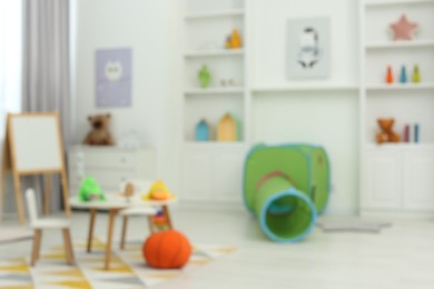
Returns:
[[[120,185],[120,190],[122,192],[126,191],[127,185],[131,183],[135,189],[135,193],[140,193],[142,191],[147,191],[150,187],[150,182],[147,181],[138,181],[138,180],[131,180],[131,181],[126,181]],[[130,198],[139,198],[140,196],[132,196]],[[154,207],[131,207],[128,209],[124,209],[119,212],[120,216],[124,217],[122,221],[122,235],[120,238],[120,249],[125,249],[125,242],[127,238],[127,226],[128,226],[128,219],[129,217],[135,217],[135,216],[146,216],[148,217],[148,223],[149,223],[149,230],[152,232],[152,216],[155,216],[158,212],[158,210]]]

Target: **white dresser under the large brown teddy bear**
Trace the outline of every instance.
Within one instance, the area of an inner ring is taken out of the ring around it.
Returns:
[[[76,146],[68,151],[70,195],[78,193],[80,181],[93,177],[103,191],[118,191],[128,179],[156,177],[156,153],[152,148]]]

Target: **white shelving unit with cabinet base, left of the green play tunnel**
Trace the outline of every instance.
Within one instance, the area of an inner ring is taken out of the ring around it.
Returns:
[[[181,199],[239,203],[247,131],[246,7],[239,0],[184,0],[185,53],[181,140]],[[217,11],[217,12],[216,12]],[[237,29],[243,48],[226,49],[225,41]],[[201,88],[198,71],[206,64],[211,74]],[[228,80],[235,83],[229,86]],[[241,138],[234,142],[196,141],[200,119],[211,124],[233,113],[240,122]]]

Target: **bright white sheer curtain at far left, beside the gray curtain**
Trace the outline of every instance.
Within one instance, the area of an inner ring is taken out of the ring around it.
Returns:
[[[21,0],[0,0],[0,163],[6,116],[21,109],[22,14]],[[12,183],[8,183],[8,188],[9,193],[6,195],[6,203],[0,206],[0,213],[1,209],[4,212],[16,209],[14,198],[9,198],[13,196],[10,193]]]

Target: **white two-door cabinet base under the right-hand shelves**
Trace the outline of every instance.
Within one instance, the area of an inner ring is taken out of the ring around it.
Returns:
[[[373,146],[366,150],[362,213],[434,215],[434,148]]]

